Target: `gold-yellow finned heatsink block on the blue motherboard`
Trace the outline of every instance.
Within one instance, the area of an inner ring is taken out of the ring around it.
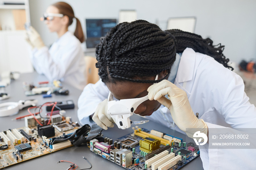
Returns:
[[[160,144],[160,140],[153,137],[146,137],[143,138],[143,140],[140,140],[140,150],[149,153],[157,150],[160,147]]]

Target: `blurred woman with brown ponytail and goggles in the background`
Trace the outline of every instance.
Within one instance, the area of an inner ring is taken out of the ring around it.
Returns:
[[[76,19],[74,34],[68,27]],[[84,41],[82,26],[75,17],[72,7],[64,2],[50,5],[41,18],[50,32],[56,32],[58,39],[50,46],[44,45],[38,32],[32,27],[27,30],[27,42],[32,47],[31,62],[39,74],[49,81],[60,80],[80,90],[86,85],[85,62],[81,43]]]

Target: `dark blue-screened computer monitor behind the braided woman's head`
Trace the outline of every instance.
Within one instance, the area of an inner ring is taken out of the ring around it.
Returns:
[[[86,19],[86,47],[95,48],[100,38],[116,26],[116,19]]]

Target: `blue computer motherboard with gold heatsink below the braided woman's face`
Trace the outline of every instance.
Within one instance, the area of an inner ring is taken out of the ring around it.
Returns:
[[[116,140],[90,140],[88,146],[95,154],[128,170],[178,170],[200,155],[199,147],[192,142],[155,130],[133,130]]]

